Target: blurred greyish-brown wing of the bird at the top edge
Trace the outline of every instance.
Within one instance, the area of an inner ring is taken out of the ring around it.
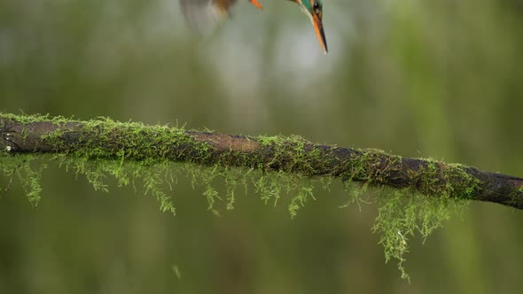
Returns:
[[[202,35],[210,34],[235,3],[236,0],[180,0],[187,23]]]

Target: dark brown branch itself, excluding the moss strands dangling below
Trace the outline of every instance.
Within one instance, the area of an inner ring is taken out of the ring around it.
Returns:
[[[427,197],[489,201],[523,209],[523,179],[433,159],[310,143],[301,137],[222,135],[112,120],[0,114],[5,154],[53,153],[89,159],[191,162],[410,189]]]

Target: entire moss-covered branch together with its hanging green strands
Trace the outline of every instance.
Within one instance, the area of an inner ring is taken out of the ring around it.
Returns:
[[[42,162],[32,163],[34,159]],[[203,184],[208,209],[215,213],[215,201],[223,199],[215,189],[218,178],[227,187],[227,209],[233,208],[238,186],[247,188],[250,180],[265,203],[276,205],[282,194],[289,194],[292,216],[314,199],[314,182],[325,188],[339,178],[349,203],[375,187],[381,192],[372,199],[378,204],[372,230],[381,235],[386,261],[397,259],[407,279],[403,262],[410,236],[418,232],[425,239],[468,200],[523,209],[523,179],[433,159],[310,143],[296,135],[221,135],[108,119],[0,113],[0,171],[9,178],[8,189],[0,191],[9,190],[16,174],[36,205],[41,173],[49,161],[85,175],[96,190],[107,190],[107,174],[121,186],[135,186],[141,179],[144,193],[172,213],[175,206],[164,189],[176,183],[180,170],[191,175],[193,183]]]

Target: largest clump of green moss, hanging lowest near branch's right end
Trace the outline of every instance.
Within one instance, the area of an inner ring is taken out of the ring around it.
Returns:
[[[425,242],[441,228],[452,213],[459,213],[467,199],[480,189],[480,181],[465,171],[465,166],[442,164],[433,159],[410,174],[413,186],[404,190],[384,189],[378,197],[379,216],[372,230],[380,234],[386,261],[397,259],[402,278],[409,279],[403,262],[408,240],[419,233]],[[418,191],[423,191],[421,194]]]

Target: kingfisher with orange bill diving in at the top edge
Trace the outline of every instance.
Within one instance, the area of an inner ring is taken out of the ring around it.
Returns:
[[[248,0],[256,8],[262,9],[258,0]],[[322,22],[323,0],[286,0],[300,5],[314,26],[322,50],[327,53],[324,25]],[[183,14],[189,25],[201,33],[209,32],[215,24],[230,14],[230,8],[237,0],[180,0]]]

